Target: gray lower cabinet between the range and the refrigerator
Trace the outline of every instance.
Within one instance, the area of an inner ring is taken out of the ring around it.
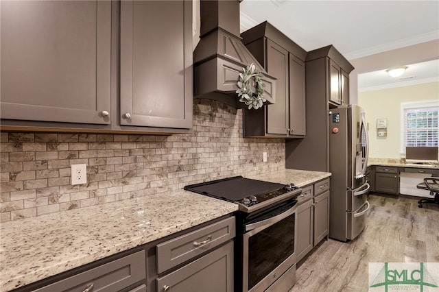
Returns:
[[[297,208],[297,260],[329,234],[329,179],[302,188]]]

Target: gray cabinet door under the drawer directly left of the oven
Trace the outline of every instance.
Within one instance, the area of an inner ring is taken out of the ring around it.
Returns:
[[[232,292],[233,242],[157,278],[157,292]]]

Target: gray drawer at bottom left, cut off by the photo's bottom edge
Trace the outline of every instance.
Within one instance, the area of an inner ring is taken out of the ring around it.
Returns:
[[[64,280],[49,284],[36,292],[54,291],[85,291],[93,284],[91,291],[119,291],[135,282],[145,279],[145,251],[136,252],[113,260],[110,263],[100,265],[94,269],[78,273]],[[139,287],[140,288],[140,287]],[[137,291],[137,290],[134,290]],[[138,290],[142,291],[142,290]]]

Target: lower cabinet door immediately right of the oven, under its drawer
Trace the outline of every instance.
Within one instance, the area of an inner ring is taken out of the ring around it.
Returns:
[[[300,204],[297,207],[297,261],[301,260],[313,248],[313,200]]]

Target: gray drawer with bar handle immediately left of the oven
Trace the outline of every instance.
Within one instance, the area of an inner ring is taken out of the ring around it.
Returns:
[[[158,273],[163,273],[171,267],[233,239],[235,232],[235,217],[229,217],[176,239],[158,244],[156,246]]]

